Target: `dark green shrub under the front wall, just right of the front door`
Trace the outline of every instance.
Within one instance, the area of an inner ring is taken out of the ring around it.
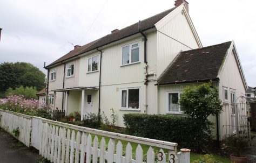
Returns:
[[[102,119],[102,116],[95,113],[88,113],[84,116],[82,126],[89,127],[92,129],[98,129],[101,124],[99,119]]]

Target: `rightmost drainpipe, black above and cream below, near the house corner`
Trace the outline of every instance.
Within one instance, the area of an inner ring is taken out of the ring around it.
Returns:
[[[146,42],[147,42],[147,37],[146,35],[142,32],[142,29],[141,29],[141,21],[139,20],[139,23],[138,23],[138,30],[139,30],[139,33],[142,34],[142,36],[144,37],[144,63],[145,63],[145,66],[144,66],[144,87],[143,87],[143,90],[144,90],[144,113],[147,114],[147,46],[146,46]]]

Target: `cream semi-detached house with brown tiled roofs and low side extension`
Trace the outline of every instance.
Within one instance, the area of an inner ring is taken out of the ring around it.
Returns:
[[[233,134],[235,129],[226,131],[223,125],[234,125],[231,104],[247,89],[234,42],[203,48],[188,3],[178,0],[174,5],[89,44],[76,45],[46,66],[46,97],[54,108],[66,114],[80,111],[81,119],[89,112],[103,111],[110,117],[113,108],[116,125],[124,126],[127,113],[182,114],[177,104],[182,90],[212,80],[228,106],[218,116],[215,135]],[[227,123],[225,115],[232,122]],[[216,123],[217,117],[210,119]]]

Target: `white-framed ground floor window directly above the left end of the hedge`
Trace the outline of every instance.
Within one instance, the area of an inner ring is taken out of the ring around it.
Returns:
[[[140,88],[121,89],[121,109],[140,109]]]

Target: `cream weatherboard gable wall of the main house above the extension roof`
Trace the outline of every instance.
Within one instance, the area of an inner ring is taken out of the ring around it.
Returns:
[[[159,77],[181,50],[188,51],[199,48],[200,45],[185,14],[181,11],[157,30],[157,76]]]

